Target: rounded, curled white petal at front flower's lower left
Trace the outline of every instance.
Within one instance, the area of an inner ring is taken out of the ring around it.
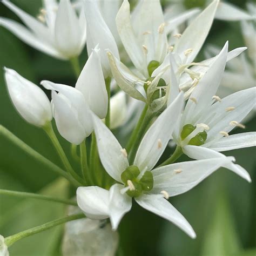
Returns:
[[[78,187],[77,204],[90,219],[109,218],[109,191],[104,188]]]

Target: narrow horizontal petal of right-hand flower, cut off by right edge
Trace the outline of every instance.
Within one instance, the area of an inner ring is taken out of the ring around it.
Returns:
[[[207,144],[204,146],[207,147]],[[227,138],[223,137],[218,142],[210,145],[212,150],[219,152],[253,146],[256,146],[256,132],[243,132],[230,135]]]

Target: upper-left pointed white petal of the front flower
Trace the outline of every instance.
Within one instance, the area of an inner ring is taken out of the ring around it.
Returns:
[[[122,183],[121,174],[129,166],[127,157],[122,153],[123,148],[102,120],[93,116],[93,121],[100,160],[106,172]]]

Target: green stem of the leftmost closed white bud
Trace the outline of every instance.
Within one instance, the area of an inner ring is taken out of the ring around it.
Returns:
[[[59,144],[59,141],[56,137],[55,132],[53,131],[53,128],[50,122],[44,126],[44,130],[48,134],[49,138],[51,139],[53,146],[55,146],[55,149],[59,154],[60,160],[62,160],[62,163],[65,166],[66,171],[68,171],[71,174],[71,176],[76,180],[78,180],[80,183],[83,183],[83,179],[78,176],[78,174],[73,170],[71,164],[69,163],[69,160],[66,157],[66,154],[62,149],[62,146]]]

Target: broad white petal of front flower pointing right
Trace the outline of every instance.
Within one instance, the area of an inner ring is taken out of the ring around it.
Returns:
[[[219,157],[159,167],[152,170],[154,187],[150,192],[159,194],[165,190],[170,197],[177,196],[191,190],[219,167],[229,162],[230,160]]]

